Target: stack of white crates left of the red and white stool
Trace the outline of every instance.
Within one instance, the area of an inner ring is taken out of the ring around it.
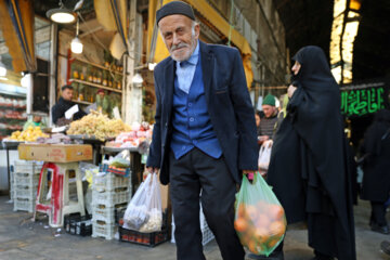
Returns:
[[[34,212],[41,161],[15,160],[13,171],[14,211]]]

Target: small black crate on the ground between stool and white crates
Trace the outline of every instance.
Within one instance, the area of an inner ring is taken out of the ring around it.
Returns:
[[[72,235],[91,236],[92,216],[67,214],[64,217],[64,229]]]

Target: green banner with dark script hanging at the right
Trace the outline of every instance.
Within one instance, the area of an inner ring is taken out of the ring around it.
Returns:
[[[341,89],[341,113],[347,116],[363,116],[382,108],[385,108],[385,86]]]

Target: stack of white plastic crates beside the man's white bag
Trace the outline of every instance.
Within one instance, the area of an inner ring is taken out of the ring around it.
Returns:
[[[131,181],[112,172],[93,176],[92,236],[113,239],[115,209],[127,207],[131,197]]]

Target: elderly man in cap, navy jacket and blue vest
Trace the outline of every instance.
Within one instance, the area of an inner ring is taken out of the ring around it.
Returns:
[[[257,170],[257,142],[239,52],[198,40],[192,8],[181,1],[157,11],[170,56],[155,70],[156,123],[147,167],[170,182],[178,259],[205,259],[199,199],[223,259],[243,260],[234,230],[236,184]],[[202,191],[202,195],[200,195]]]

